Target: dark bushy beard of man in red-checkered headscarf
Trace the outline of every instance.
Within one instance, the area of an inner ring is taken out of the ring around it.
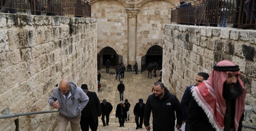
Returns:
[[[234,86],[234,87],[230,87],[230,86]],[[242,92],[243,90],[240,87],[240,84],[238,82],[230,83],[230,84],[224,83],[222,96],[224,97],[225,100],[232,100],[241,96]]]

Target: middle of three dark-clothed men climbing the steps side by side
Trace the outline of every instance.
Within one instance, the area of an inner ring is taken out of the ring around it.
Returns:
[[[116,106],[116,118],[119,120],[119,127],[124,126],[125,118],[127,118],[127,111],[129,111],[129,109],[125,106],[124,101],[121,101],[120,104]]]

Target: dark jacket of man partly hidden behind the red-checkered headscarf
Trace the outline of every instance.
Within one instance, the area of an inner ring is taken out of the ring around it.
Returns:
[[[196,86],[196,85],[192,85],[192,86]],[[187,121],[189,119],[188,108],[189,108],[189,101],[191,97],[190,89],[192,86],[187,87],[187,89],[183,94],[182,101],[180,102],[180,104],[182,105],[183,121]]]

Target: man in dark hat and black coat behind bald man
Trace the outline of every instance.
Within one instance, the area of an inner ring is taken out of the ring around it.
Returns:
[[[89,131],[90,126],[92,131],[97,131],[98,117],[101,116],[100,100],[95,92],[88,91],[86,84],[82,84],[81,88],[89,97],[89,102],[82,111],[81,129],[82,131]]]

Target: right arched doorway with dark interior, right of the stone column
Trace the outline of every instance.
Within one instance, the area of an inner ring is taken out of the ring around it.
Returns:
[[[163,48],[159,45],[153,45],[147,50],[147,54],[142,57],[144,60],[144,68],[146,69],[149,63],[154,63],[155,61],[158,64],[158,70],[162,69],[163,62]],[[143,63],[143,62],[142,62]],[[144,69],[144,71],[145,71]]]

